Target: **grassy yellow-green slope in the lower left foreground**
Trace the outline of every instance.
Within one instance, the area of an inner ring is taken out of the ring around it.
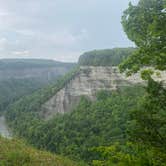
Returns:
[[[39,151],[16,139],[0,137],[0,166],[81,166],[65,157]]]

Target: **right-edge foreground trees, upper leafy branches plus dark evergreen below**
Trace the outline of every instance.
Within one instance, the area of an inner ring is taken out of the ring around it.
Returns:
[[[121,71],[132,74],[141,67],[166,70],[166,0],[140,0],[131,3],[122,16],[122,25],[137,50],[120,65]],[[146,94],[131,112],[129,136],[135,143],[166,152],[166,90],[151,78],[153,72],[143,70],[148,80]]]

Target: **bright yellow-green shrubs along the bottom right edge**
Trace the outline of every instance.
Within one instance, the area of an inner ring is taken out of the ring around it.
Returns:
[[[94,160],[93,166],[166,166],[165,153],[143,144],[127,142],[121,145],[116,142],[92,150],[100,154],[100,160]]]

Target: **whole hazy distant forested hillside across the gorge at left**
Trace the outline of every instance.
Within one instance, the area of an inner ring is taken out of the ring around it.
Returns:
[[[74,66],[53,60],[1,59],[0,112],[20,97],[53,83]]]

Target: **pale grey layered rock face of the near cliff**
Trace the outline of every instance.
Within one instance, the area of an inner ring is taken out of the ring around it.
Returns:
[[[166,81],[166,73],[162,73],[162,78]],[[78,75],[43,104],[42,117],[49,119],[58,112],[72,110],[81,96],[94,100],[99,90],[116,90],[118,87],[137,83],[143,83],[139,74],[126,78],[125,74],[119,73],[117,67],[80,67]]]

